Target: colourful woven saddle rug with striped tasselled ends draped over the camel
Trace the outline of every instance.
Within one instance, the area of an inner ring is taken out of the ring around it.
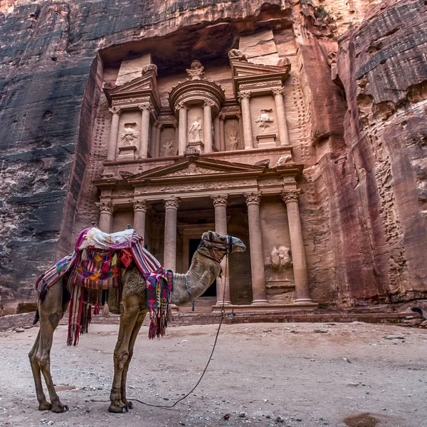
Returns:
[[[142,241],[143,238],[132,228],[112,234],[103,233],[96,227],[86,228],[78,236],[75,251],[59,260],[37,279],[36,291],[38,298],[43,300],[48,288],[65,273],[69,273],[71,299],[68,345],[77,345],[80,333],[88,332],[92,307],[88,305],[88,301],[85,302],[85,288],[119,288],[122,272],[130,266],[132,260],[146,281],[149,338],[165,334],[167,323],[172,318],[169,297],[173,290],[174,275],[171,270],[164,270],[159,261],[144,248]],[[94,312],[97,314],[95,310]]]

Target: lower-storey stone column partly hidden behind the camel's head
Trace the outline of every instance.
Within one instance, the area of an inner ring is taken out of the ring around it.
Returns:
[[[215,231],[216,233],[226,236],[227,234],[227,199],[228,194],[220,194],[211,196],[215,208]],[[222,305],[224,297],[224,285],[226,286],[224,304],[230,305],[230,271],[228,269],[227,260],[224,258],[221,261],[223,270],[222,278],[216,279],[216,305]],[[227,274],[225,272],[227,271]]]

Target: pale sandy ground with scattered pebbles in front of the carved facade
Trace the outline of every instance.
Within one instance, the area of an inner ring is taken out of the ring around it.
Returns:
[[[66,327],[58,327],[52,375],[70,407],[60,414],[37,410],[27,357],[37,332],[0,333],[0,426],[427,426],[426,330],[360,322],[224,325],[194,394],[173,409],[136,402],[125,414],[90,400],[108,399],[117,326],[92,325],[73,348],[65,346]],[[215,333],[216,325],[169,327],[150,342],[143,327],[129,396],[154,404],[181,397],[199,379]],[[390,335],[404,339],[384,338]]]

